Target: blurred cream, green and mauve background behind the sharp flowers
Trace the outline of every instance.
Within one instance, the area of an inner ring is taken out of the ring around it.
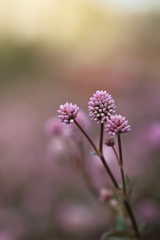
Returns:
[[[60,104],[87,112],[96,90],[131,124],[122,141],[132,205],[145,239],[160,239],[160,2],[1,0],[0,240],[97,240],[113,228],[98,197],[112,184],[86,140],[92,192],[64,157],[79,145],[45,131]],[[95,141],[98,131],[93,122]]]

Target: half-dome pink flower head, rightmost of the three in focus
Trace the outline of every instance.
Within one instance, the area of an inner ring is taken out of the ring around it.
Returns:
[[[114,136],[116,134],[129,132],[131,131],[131,128],[125,117],[122,117],[121,115],[114,115],[107,121],[105,131],[108,132],[109,135]]]

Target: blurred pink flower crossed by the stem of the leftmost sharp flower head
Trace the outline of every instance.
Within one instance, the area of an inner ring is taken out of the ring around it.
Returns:
[[[88,132],[89,128],[90,128],[90,119],[88,118],[87,114],[80,110],[77,118],[76,118],[77,122],[81,125],[81,127]],[[69,136],[72,138],[74,138],[74,140],[81,140],[82,137],[84,137],[83,133],[79,130],[79,128],[75,125],[75,124],[71,124],[69,126]]]

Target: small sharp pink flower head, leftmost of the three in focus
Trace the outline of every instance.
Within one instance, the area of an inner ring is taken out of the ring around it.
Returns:
[[[74,122],[74,119],[77,117],[79,111],[79,107],[77,105],[73,105],[72,103],[66,102],[64,105],[60,105],[58,118],[61,122],[65,122],[66,124],[70,124]]]

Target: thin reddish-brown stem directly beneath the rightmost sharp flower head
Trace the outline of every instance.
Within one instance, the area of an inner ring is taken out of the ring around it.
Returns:
[[[123,170],[123,156],[122,156],[122,146],[121,146],[121,137],[120,134],[117,134],[118,137],[118,148],[119,148],[119,166],[122,176],[122,184],[123,184],[123,192],[124,195],[126,195],[126,184],[125,184],[125,176],[124,176],[124,170]]]

